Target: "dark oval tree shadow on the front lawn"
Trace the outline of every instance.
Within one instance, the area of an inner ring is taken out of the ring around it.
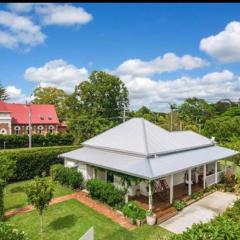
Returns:
[[[77,222],[78,217],[74,214],[69,214],[64,217],[60,217],[49,224],[49,227],[53,230],[61,230],[63,228],[72,227]]]

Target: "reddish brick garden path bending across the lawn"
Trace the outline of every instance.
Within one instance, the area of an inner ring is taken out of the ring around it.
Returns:
[[[50,205],[60,203],[60,202],[65,202],[69,199],[76,199],[77,201],[79,201],[79,202],[89,206],[90,208],[94,209],[98,213],[101,213],[101,214],[105,215],[106,217],[112,219],[114,222],[120,224],[122,227],[124,227],[128,230],[132,230],[132,229],[135,228],[135,226],[132,225],[126,217],[124,217],[120,213],[114,211],[109,206],[93,200],[92,198],[88,197],[88,195],[85,192],[82,192],[82,191],[77,192],[77,193],[73,193],[73,194],[69,194],[69,195],[66,195],[66,196],[63,196],[63,197],[54,198],[51,201]],[[15,215],[20,214],[20,213],[30,212],[33,209],[34,209],[34,207],[32,205],[28,205],[28,206],[23,207],[23,208],[18,208],[18,209],[8,211],[8,212],[5,213],[5,216],[6,217],[12,217],[12,216],[15,216]]]

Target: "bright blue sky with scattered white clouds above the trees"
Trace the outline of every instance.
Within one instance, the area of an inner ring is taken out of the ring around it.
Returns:
[[[240,98],[240,4],[0,4],[0,82],[72,93],[93,70],[119,76],[130,108]]]

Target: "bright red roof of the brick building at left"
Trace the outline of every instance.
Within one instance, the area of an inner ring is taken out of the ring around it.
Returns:
[[[0,103],[0,112],[4,111],[2,106],[7,107],[12,117],[12,124],[28,124],[29,106],[18,103]],[[31,104],[32,124],[59,124],[55,106],[50,104]],[[5,112],[6,112],[5,110]]]

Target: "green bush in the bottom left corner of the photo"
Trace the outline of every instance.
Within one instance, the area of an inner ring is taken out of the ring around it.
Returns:
[[[19,231],[14,225],[9,223],[0,223],[1,240],[28,240],[24,232]]]

